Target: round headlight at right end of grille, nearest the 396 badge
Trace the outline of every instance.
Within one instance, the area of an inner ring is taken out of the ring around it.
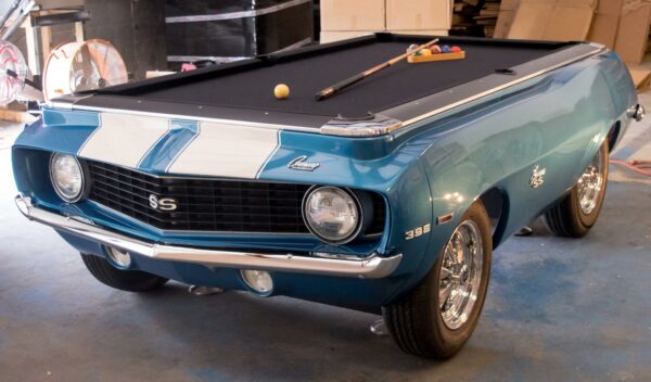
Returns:
[[[355,239],[362,220],[357,198],[336,187],[309,191],[303,202],[303,217],[310,232],[331,244]]]

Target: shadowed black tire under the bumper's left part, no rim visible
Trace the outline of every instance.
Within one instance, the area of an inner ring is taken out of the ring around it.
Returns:
[[[168,279],[140,270],[117,269],[106,259],[81,254],[90,273],[100,282],[127,292],[149,292],[162,288]]]

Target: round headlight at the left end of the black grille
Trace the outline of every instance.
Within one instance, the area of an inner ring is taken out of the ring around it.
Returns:
[[[84,191],[84,170],[76,157],[54,154],[50,160],[50,178],[56,194],[67,202],[76,202]]]

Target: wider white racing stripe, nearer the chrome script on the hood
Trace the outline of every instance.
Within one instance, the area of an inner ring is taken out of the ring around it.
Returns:
[[[169,173],[255,179],[278,147],[278,130],[201,123],[200,135]]]

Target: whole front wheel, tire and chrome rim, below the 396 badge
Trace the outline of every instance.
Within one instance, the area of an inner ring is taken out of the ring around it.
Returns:
[[[493,243],[486,209],[475,202],[423,281],[382,308],[388,331],[405,353],[447,359],[474,331],[490,277]]]

